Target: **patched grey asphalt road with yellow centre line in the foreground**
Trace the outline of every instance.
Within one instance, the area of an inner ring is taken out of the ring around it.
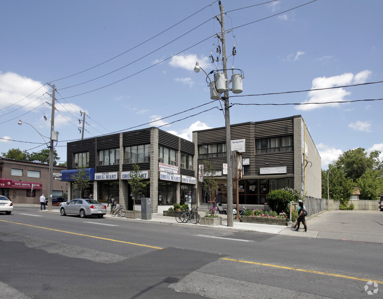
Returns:
[[[381,244],[374,242],[80,219],[33,207],[0,215],[0,225],[2,298],[377,298],[383,292]]]

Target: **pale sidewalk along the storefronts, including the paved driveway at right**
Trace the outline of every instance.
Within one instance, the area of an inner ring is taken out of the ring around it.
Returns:
[[[45,213],[49,211],[41,212]],[[59,213],[59,207],[52,207],[51,212]],[[107,212],[104,217],[119,219],[121,221],[146,221],[171,225],[194,225],[207,227],[202,224],[178,223],[174,217],[167,217],[162,214],[152,214],[151,219],[149,220],[143,220],[141,218],[129,219],[113,217],[109,212]],[[228,227],[227,215],[220,215],[220,217],[222,217],[222,225],[208,227],[216,229],[225,228],[242,231],[257,231],[287,236],[383,243],[383,212],[331,211],[318,213],[307,219],[307,232],[304,232],[302,224],[299,231],[296,231],[292,226],[242,223],[238,220],[233,221],[233,227]]]

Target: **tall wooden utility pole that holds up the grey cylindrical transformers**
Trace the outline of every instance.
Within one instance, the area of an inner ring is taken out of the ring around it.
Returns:
[[[231,163],[231,137],[230,137],[230,113],[229,113],[229,81],[227,76],[227,57],[226,57],[226,42],[225,42],[225,13],[224,6],[221,4],[221,1],[218,1],[221,11],[221,42],[222,42],[222,56],[223,56],[223,67],[224,74],[226,79],[226,88],[225,88],[225,124],[226,124],[226,161],[228,164],[228,174],[227,174],[227,226],[233,226],[233,166]]]

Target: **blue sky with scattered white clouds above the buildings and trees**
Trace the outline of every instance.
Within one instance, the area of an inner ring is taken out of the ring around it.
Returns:
[[[229,92],[231,124],[302,115],[322,169],[357,147],[383,153],[381,0],[222,5],[227,67],[243,74],[243,92]],[[224,127],[209,79],[194,72],[197,61],[223,69],[215,16],[212,0],[3,2],[0,153],[47,148],[53,84],[60,162],[81,139],[81,112],[84,138],[158,127],[191,140]]]

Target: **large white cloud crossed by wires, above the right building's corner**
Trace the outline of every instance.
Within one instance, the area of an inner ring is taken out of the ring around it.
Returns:
[[[329,88],[342,85],[350,85],[353,83],[364,83],[369,75],[370,71],[362,71],[356,75],[352,73],[344,73],[342,75],[333,77],[318,77],[312,81],[311,89]],[[326,103],[326,102],[344,102],[346,96],[349,96],[350,92],[346,92],[343,88],[324,89],[322,91],[311,91],[308,94],[308,99],[303,103]],[[297,110],[312,110],[323,107],[338,107],[339,103],[330,104],[310,104],[299,105],[295,107]]]

